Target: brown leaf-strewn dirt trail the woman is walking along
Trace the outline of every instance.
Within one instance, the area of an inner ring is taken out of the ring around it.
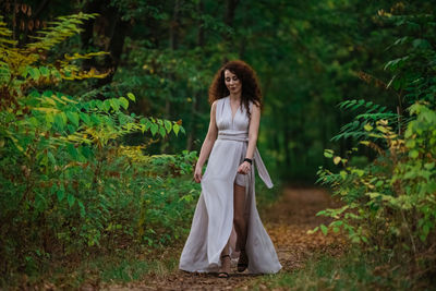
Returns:
[[[330,195],[320,189],[287,189],[279,201],[262,216],[264,226],[270,235],[283,266],[280,271],[290,271],[303,266],[313,252],[340,253],[342,241],[338,235],[324,237],[317,232],[307,234],[319,223],[328,223],[325,217],[315,214],[337,204]],[[193,275],[177,271],[165,278],[148,278],[142,283],[124,287],[111,287],[110,290],[232,290],[245,289],[256,276],[238,274],[235,266],[229,279],[215,275]]]

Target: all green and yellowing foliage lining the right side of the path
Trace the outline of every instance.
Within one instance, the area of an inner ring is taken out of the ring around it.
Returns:
[[[379,11],[388,23],[396,24],[402,34],[389,48],[401,46],[407,56],[385,65],[393,74],[387,87],[398,90],[400,114],[385,111],[372,102],[346,101],[342,108],[368,108],[355,118],[356,125],[346,125],[336,140],[354,136],[360,144],[375,150],[375,159],[366,165],[351,165],[327,149],[325,156],[340,167],[339,172],[323,169],[318,182],[331,186],[343,206],[325,209],[317,215],[331,217],[328,226],[313,231],[343,230],[352,243],[375,254],[388,254],[410,266],[415,276],[435,271],[436,245],[436,111],[434,95],[436,51],[434,32],[416,38],[417,29],[433,27],[426,14],[397,15]],[[413,35],[411,37],[410,35]],[[403,96],[403,92],[407,94]],[[402,100],[408,104],[401,113]],[[349,151],[352,154],[358,148]]]

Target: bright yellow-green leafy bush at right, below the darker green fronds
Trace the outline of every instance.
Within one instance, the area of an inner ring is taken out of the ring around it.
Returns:
[[[388,149],[379,150],[379,157],[365,168],[347,165],[337,174],[319,171],[319,181],[334,187],[346,205],[339,209],[326,209],[318,215],[335,218],[329,228],[337,232],[344,229],[351,241],[366,243],[376,250],[425,250],[433,243],[428,233],[435,229],[436,203],[436,112],[423,105],[411,107],[416,120],[409,123],[404,140],[395,134],[387,121],[377,122],[370,130],[383,138]],[[365,223],[363,223],[365,221]],[[323,232],[327,229],[320,227]],[[420,246],[416,239],[420,238]]]

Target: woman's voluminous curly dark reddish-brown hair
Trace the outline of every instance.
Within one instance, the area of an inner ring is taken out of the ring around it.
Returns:
[[[209,87],[209,104],[211,105],[215,100],[221,99],[230,95],[230,92],[225,83],[226,70],[229,70],[230,72],[235,74],[239,80],[241,80],[241,105],[243,104],[245,106],[246,112],[250,118],[250,101],[255,104],[261,109],[263,107],[263,104],[261,87],[258,85],[256,72],[244,61],[229,61],[218,70]]]

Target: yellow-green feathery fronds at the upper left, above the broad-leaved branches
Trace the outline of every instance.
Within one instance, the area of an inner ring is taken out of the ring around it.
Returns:
[[[9,93],[1,96],[0,108],[17,104],[17,99],[25,97],[25,92],[29,88],[47,87],[62,80],[102,78],[111,73],[99,72],[95,68],[84,71],[77,63],[77,60],[107,54],[105,51],[65,54],[56,63],[48,63],[41,58],[45,54],[41,52],[53,49],[58,44],[81,32],[80,25],[96,15],[78,13],[58,17],[33,37],[34,43],[24,47],[16,46],[17,43],[12,39],[12,32],[0,16],[0,90]],[[10,84],[13,84],[12,88]]]

